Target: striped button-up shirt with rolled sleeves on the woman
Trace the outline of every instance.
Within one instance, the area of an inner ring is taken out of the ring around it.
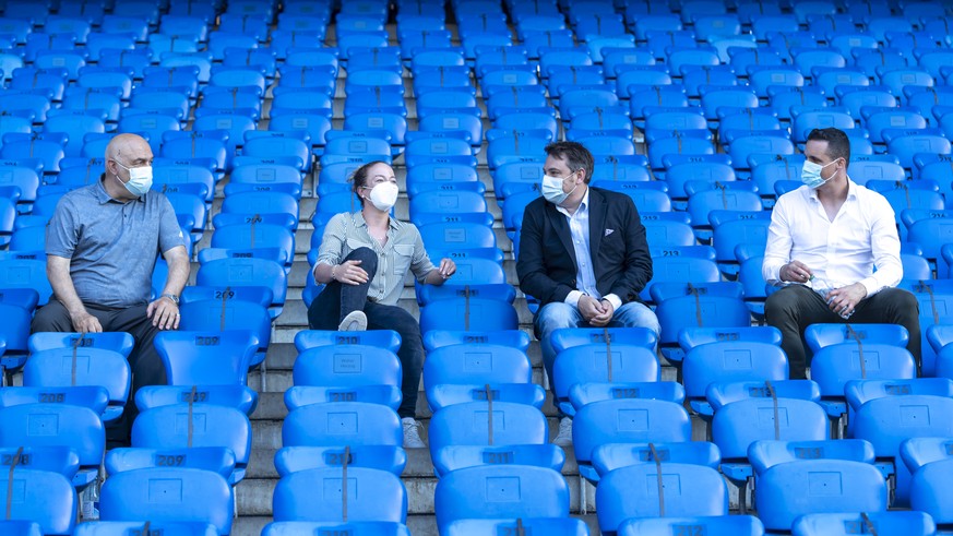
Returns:
[[[360,212],[341,213],[327,222],[315,264],[341,264],[352,251],[365,247],[378,254],[378,271],[372,274],[367,293],[368,299],[378,303],[397,305],[407,272],[414,272],[417,281],[424,283],[434,267],[424,249],[420,231],[414,224],[390,218],[388,243],[381,248],[380,242],[368,233],[367,222]]]

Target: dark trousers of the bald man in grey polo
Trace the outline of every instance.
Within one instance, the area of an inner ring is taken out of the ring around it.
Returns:
[[[135,407],[135,393],[145,385],[164,385],[166,369],[162,358],[153,345],[153,340],[159,329],[152,325],[152,319],[145,315],[146,306],[135,306],[124,309],[109,308],[84,303],[86,311],[99,320],[103,331],[121,331],[132,335],[135,346],[129,354],[129,367],[132,369],[132,389],[122,417],[106,427],[106,439],[109,442],[129,444],[132,422],[139,410]],[[39,308],[33,318],[31,333],[37,332],[72,332],[73,322],[67,308],[57,299]]]

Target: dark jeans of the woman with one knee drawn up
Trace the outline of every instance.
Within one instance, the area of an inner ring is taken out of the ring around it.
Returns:
[[[377,272],[378,255],[370,248],[358,248],[344,259],[344,261],[353,260],[361,261],[360,267],[371,277]],[[397,357],[401,359],[403,370],[401,380],[403,401],[397,408],[397,415],[401,418],[415,417],[420,371],[424,367],[424,337],[420,335],[420,324],[409,312],[400,307],[368,301],[368,288],[370,288],[370,279],[362,285],[343,285],[332,281],[308,309],[308,325],[312,330],[334,331],[348,313],[364,311],[367,315],[368,330],[397,332],[401,335],[401,349],[397,350]]]

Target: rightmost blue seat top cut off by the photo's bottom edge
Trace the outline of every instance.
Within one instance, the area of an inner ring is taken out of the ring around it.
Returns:
[[[848,536],[871,533],[931,536],[937,524],[929,514],[916,511],[861,513],[810,513],[795,520],[791,536]]]

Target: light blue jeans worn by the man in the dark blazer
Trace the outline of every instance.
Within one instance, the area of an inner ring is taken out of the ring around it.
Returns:
[[[549,378],[549,389],[552,392],[553,401],[556,400],[556,388],[552,383],[552,364],[556,361],[556,350],[552,348],[552,343],[549,336],[553,331],[561,327],[593,327],[586,322],[579,309],[562,301],[553,301],[539,308],[536,312],[536,318],[533,320],[536,329],[536,336],[539,338],[539,346],[543,349],[543,366],[546,367],[546,376]],[[639,301],[630,301],[622,303],[609,321],[607,327],[648,327],[655,332],[657,337],[662,331],[658,324],[658,318],[655,313]],[[560,412],[560,417],[562,413]]]

